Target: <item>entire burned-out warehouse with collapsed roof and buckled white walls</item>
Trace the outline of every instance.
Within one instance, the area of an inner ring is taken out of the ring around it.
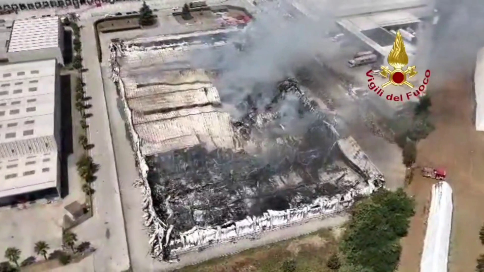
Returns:
[[[110,45],[159,259],[341,212],[383,185],[343,123],[295,79],[257,82],[234,100],[217,83],[223,69],[187,60],[234,47],[220,31],[232,30]]]

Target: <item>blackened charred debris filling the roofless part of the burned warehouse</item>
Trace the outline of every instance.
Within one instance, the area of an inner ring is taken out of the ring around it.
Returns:
[[[307,124],[290,133],[282,122],[284,113],[278,112],[288,95],[298,98],[298,114],[291,122]],[[194,226],[299,207],[350,188],[320,179],[321,172],[334,169],[339,155],[334,149],[339,134],[331,126],[334,116],[318,111],[292,78],[274,88],[267,105],[257,106],[257,96],[246,97],[240,107],[247,113],[233,121],[240,149],[195,146],[147,158],[155,211],[174,226],[171,238]],[[244,148],[250,144],[257,151]]]

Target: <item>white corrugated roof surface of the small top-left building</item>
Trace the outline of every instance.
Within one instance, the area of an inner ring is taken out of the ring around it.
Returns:
[[[58,47],[59,17],[15,20],[7,52]]]

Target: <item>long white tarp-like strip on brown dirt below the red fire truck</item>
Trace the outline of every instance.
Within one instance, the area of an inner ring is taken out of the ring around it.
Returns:
[[[434,184],[420,272],[447,272],[452,209],[452,189],[449,183],[441,181]]]

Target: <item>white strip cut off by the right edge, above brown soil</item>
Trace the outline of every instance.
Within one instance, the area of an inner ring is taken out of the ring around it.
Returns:
[[[474,91],[476,93],[476,130],[484,131],[484,48],[477,52]]]

